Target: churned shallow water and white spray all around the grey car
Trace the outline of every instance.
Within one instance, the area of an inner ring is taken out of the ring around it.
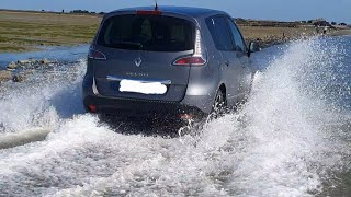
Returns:
[[[0,135],[53,132],[0,150],[0,196],[348,195],[350,51],[351,38],[336,37],[254,54],[245,106],[177,138],[84,114],[84,60],[1,84]]]

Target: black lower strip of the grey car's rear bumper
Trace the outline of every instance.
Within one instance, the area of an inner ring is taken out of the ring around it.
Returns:
[[[88,112],[89,105],[95,107],[97,114],[109,114],[117,116],[148,116],[162,118],[177,118],[181,114],[193,114],[204,116],[201,109],[188,106],[178,102],[162,102],[135,99],[117,99],[87,95],[83,99],[84,107]]]

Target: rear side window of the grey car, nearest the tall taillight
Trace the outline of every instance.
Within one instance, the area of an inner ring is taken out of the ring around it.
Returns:
[[[231,35],[225,16],[207,18],[206,25],[218,50],[234,50]]]

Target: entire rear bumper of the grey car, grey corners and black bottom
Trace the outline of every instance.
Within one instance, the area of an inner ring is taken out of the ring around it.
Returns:
[[[181,114],[192,114],[197,117],[211,113],[213,96],[207,92],[190,90],[203,90],[202,86],[188,86],[186,94],[180,102],[162,100],[145,100],[133,97],[113,97],[101,95],[97,90],[94,80],[86,74],[82,83],[83,104],[88,112],[89,105],[93,105],[98,114],[111,114],[121,116],[159,116],[177,117]],[[204,89],[206,90],[206,89]]]

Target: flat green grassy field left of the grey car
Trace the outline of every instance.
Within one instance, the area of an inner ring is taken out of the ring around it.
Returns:
[[[89,43],[100,21],[98,15],[0,11],[0,53]]]

